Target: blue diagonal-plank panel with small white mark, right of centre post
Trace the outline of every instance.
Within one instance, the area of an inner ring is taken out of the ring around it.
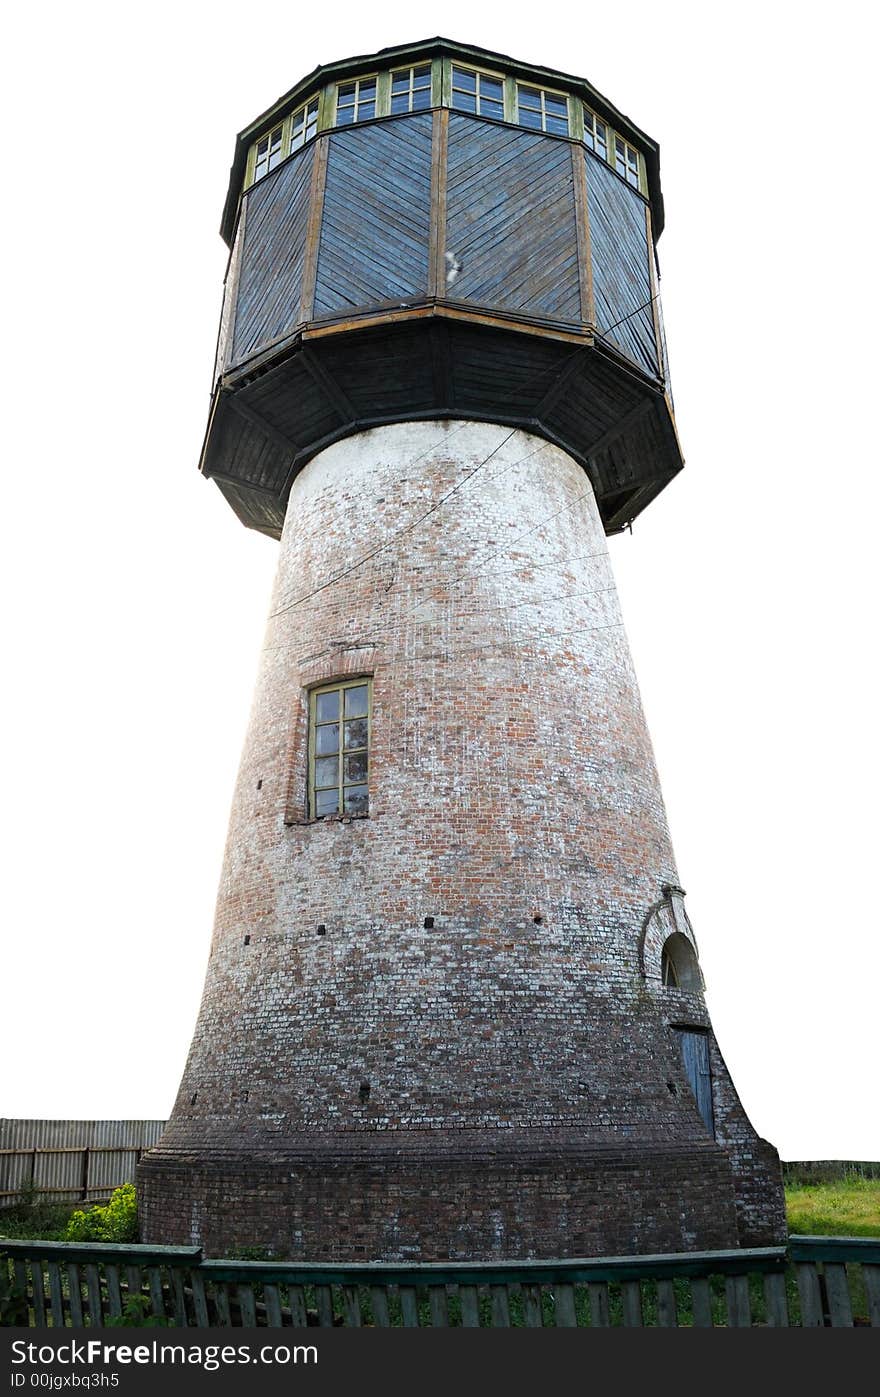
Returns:
[[[581,321],[567,142],[453,113],[447,170],[450,296]]]

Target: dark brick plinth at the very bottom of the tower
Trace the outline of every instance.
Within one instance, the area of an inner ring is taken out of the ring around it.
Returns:
[[[517,1260],[732,1248],[735,1180],[724,1151],[584,1151],[562,1136],[500,1141],[311,1141],[310,1157],[151,1151],[141,1166],[145,1235],[208,1255],[254,1246],[295,1260]],[[493,1148],[496,1146],[496,1148]],[[765,1227],[761,1242],[777,1241]]]

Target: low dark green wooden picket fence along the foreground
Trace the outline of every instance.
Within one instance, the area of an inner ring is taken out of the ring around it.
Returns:
[[[298,1264],[0,1238],[0,1323],[880,1329],[880,1241],[566,1261]]]

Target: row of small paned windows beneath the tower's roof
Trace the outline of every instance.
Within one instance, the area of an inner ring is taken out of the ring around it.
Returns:
[[[458,63],[444,66],[440,60],[373,73],[325,88],[251,147],[246,183],[268,175],[310,141],[318,129],[353,126],[376,116],[425,112],[432,106],[451,106],[457,112],[582,140],[627,184],[644,191],[644,161],[638,149],[577,98],[517,82],[501,73]]]

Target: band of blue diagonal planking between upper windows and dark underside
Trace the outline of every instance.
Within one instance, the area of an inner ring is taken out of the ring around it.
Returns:
[[[644,201],[582,147],[419,112],[318,137],[240,218],[218,376],[313,320],[450,299],[595,327],[662,377]]]

